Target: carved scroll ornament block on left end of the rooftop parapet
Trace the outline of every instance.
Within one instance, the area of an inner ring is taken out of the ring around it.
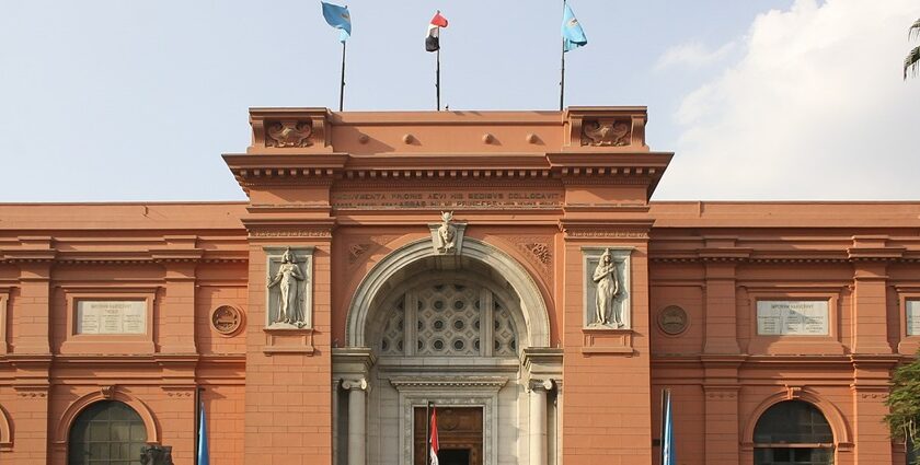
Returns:
[[[246,153],[332,152],[326,108],[250,108]]]

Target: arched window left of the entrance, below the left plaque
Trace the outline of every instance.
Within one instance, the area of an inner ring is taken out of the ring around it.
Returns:
[[[133,408],[117,400],[89,406],[70,428],[68,465],[140,465],[147,429]]]

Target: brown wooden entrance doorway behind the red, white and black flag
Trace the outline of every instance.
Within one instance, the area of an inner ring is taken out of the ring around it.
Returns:
[[[426,408],[414,412],[415,465],[425,463]],[[440,465],[482,465],[482,407],[438,407]]]

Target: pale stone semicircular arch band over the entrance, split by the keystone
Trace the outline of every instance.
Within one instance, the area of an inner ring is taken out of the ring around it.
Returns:
[[[458,256],[483,264],[501,275],[514,289],[526,328],[521,332],[520,347],[550,347],[550,317],[543,294],[529,272],[504,251],[475,239],[463,240]],[[361,280],[348,305],[346,344],[348,347],[368,347],[367,325],[375,303],[387,293],[388,282],[413,264],[435,254],[430,240],[419,240],[403,245],[383,257]]]

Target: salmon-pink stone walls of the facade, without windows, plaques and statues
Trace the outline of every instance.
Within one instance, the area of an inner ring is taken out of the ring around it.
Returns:
[[[835,464],[904,463],[882,418],[890,371],[920,347],[920,204],[651,201],[672,154],[646,144],[642,107],[250,119],[252,146],[223,155],[246,202],[0,205],[0,464],[67,464],[101,400],[192,464],[198,388],[211,464],[346,463],[337,357],[366,348],[356,295],[441,211],[519,267],[547,322],[519,348],[520,379],[550,381],[547,457],[525,438],[501,463],[657,464],[665,387],[680,464],[752,464],[758,418],[789,399],[827,419]],[[311,251],[309,325],[268,327],[272,247]],[[598,247],[628,251],[629,327],[586,319]],[[81,333],[89,301],[141,302],[142,330]],[[758,305],[780,301],[826,302],[826,330],[763,334]]]

